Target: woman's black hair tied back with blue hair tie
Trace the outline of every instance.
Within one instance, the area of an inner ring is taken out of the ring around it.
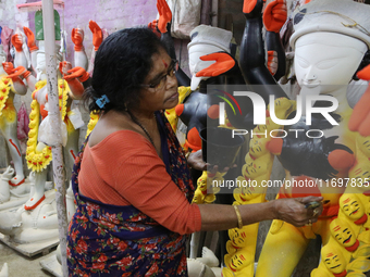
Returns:
[[[91,86],[85,100],[90,111],[124,111],[139,101],[139,87],[152,67],[151,56],[165,49],[147,27],[118,30],[100,45],[94,63]],[[109,103],[99,108],[96,100],[106,96]]]

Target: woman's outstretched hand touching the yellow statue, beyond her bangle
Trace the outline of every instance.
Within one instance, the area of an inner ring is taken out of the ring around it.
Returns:
[[[322,213],[322,197],[284,198],[274,200],[275,218],[296,227],[311,225]],[[319,202],[319,206],[310,207],[309,203]],[[307,206],[307,207],[306,207]]]

